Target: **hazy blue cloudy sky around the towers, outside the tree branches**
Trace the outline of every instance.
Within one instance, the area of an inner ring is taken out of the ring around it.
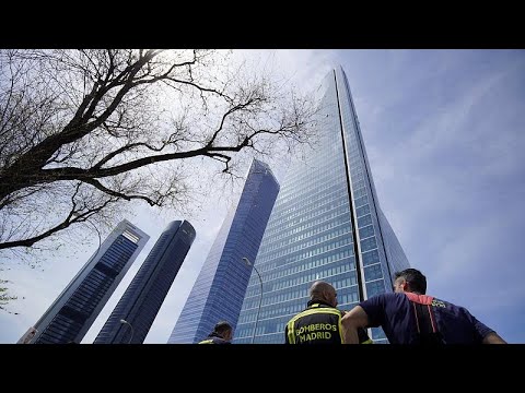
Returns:
[[[525,343],[525,51],[244,55],[271,59],[298,83],[318,83],[342,66],[380,204],[410,264],[427,275],[428,293],[467,307],[510,343]],[[197,238],[145,343],[166,343],[232,202],[210,196],[191,219]],[[151,239],[82,343],[93,342],[167,223],[185,217],[142,207],[127,218]],[[0,311],[0,343],[15,343],[97,246],[43,260],[38,270],[2,272],[19,299],[9,306],[12,313]]]

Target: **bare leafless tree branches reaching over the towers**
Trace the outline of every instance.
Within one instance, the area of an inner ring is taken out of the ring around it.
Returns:
[[[180,210],[202,158],[232,174],[243,150],[307,142],[313,103],[225,56],[0,51],[0,250],[110,222],[124,201]]]

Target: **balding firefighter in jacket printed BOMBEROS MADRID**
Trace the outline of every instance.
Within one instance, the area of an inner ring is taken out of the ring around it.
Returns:
[[[342,344],[341,318],[345,311],[337,306],[336,289],[316,281],[310,288],[307,308],[293,317],[284,327],[287,344]],[[360,329],[361,344],[372,344],[364,329]]]

